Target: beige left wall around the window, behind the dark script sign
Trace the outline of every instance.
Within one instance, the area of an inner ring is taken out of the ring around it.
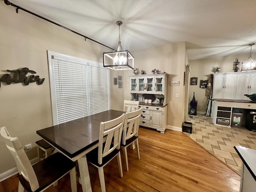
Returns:
[[[110,51],[22,10],[16,14],[12,6],[0,1],[0,76],[6,70],[27,67],[45,78],[42,85],[1,82],[0,87],[0,127],[5,126],[23,145],[32,144],[32,151],[27,153],[30,160],[37,155],[35,141],[40,136],[36,130],[52,126],[47,50],[96,62],[103,62],[102,52]],[[110,71],[110,90],[115,93],[111,99],[113,109],[123,107],[124,90],[113,85],[112,77],[118,74],[123,72]],[[0,154],[0,174],[16,167],[1,137]]]

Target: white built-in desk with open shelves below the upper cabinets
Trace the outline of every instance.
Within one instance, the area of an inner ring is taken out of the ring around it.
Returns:
[[[255,112],[255,115],[250,114],[250,112]],[[235,116],[232,116],[232,114],[235,114]],[[254,120],[256,118],[256,103],[249,100],[214,99],[212,115],[212,121],[216,126],[230,127],[232,124],[240,126],[241,122],[239,120],[243,118],[246,122],[245,127],[251,131],[256,131],[256,128],[254,128],[254,125],[256,125],[256,119]],[[252,118],[252,120],[249,118]]]

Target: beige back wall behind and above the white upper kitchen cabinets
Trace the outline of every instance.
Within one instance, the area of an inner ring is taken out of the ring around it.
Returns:
[[[248,49],[250,47],[248,46]],[[199,87],[200,80],[208,80],[210,79],[210,74],[213,74],[215,71],[215,67],[221,68],[221,73],[224,72],[234,72],[233,66],[234,62],[236,61],[236,58],[238,58],[238,61],[240,62],[240,65],[238,66],[241,69],[242,62],[245,62],[249,57],[249,54],[237,54],[237,55],[230,55],[225,57],[216,57],[216,58],[208,58],[208,59],[200,59],[200,60],[190,60],[189,65],[191,68],[191,77],[197,77],[198,83],[197,85],[190,85],[189,86],[189,102],[193,98],[193,92],[195,92],[195,98],[198,100],[198,107],[197,111],[199,112],[205,112],[205,108],[203,106],[206,106],[208,95],[211,94],[210,87],[206,89],[201,89]],[[252,53],[252,58],[256,59],[256,53]],[[238,71],[240,71],[240,69]],[[190,80],[189,80],[190,84]]]

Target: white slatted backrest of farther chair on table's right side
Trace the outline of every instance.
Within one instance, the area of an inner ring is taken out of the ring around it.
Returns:
[[[140,116],[142,113],[142,108],[134,112],[126,112],[124,118],[124,130],[122,137],[122,144],[126,144],[126,140],[133,136],[138,136],[138,130],[140,125]]]

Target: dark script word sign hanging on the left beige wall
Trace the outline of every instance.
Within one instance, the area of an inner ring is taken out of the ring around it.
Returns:
[[[6,82],[6,84],[10,85],[12,82],[14,83],[24,83],[25,85],[28,85],[32,82],[37,82],[39,85],[43,84],[44,78],[39,78],[39,76],[26,76],[28,73],[36,74],[35,71],[29,70],[28,68],[22,68],[21,70],[6,70],[8,72],[14,72],[13,77],[11,77],[10,74],[6,73],[2,75],[0,78],[0,87],[1,87],[1,81]]]

